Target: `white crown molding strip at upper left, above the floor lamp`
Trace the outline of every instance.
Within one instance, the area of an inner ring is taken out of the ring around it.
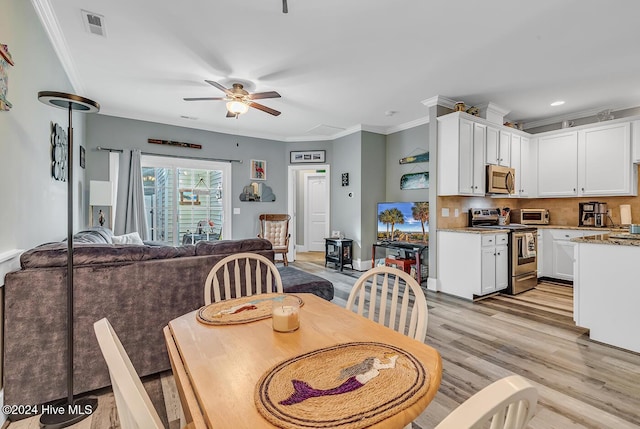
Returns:
[[[42,22],[44,31],[49,36],[49,40],[53,45],[53,50],[56,52],[58,59],[62,63],[62,68],[67,74],[69,82],[73,87],[74,92],[84,94],[84,86],[80,83],[76,67],[69,53],[69,45],[62,34],[60,24],[56,18],[56,14],[53,12],[50,0],[31,0],[33,8]]]

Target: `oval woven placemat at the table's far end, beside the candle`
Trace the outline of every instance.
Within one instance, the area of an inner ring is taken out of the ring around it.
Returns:
[[[301,307],[304,305],[297,295],[263,293],[205,305],[196,313],[196,319],[207,325],[236,325],[267,319],[271,317],[273,301],[282,300],[285,296],[296,298]]]

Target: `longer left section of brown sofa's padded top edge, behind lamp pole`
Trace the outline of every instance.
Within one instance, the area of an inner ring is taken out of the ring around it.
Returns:
[[[73,246],[73,264],[111,264],[147,261],[152,259],[195,256],[195,246],[138,246],[130,244],[89,244]],[[67,245],[49,243],[24,252],[20,257],[22,268],[63,267],[67,265]]]

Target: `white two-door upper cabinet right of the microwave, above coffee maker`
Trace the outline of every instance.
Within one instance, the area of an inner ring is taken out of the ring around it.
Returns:
[[[637,195],[628,121],[538,137],[538,196]]]

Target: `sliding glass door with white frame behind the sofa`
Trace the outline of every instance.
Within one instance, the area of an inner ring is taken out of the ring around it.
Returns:
[[[231,165],[144,155],[145,213],[151,240],[174,246],[231,238]]]

